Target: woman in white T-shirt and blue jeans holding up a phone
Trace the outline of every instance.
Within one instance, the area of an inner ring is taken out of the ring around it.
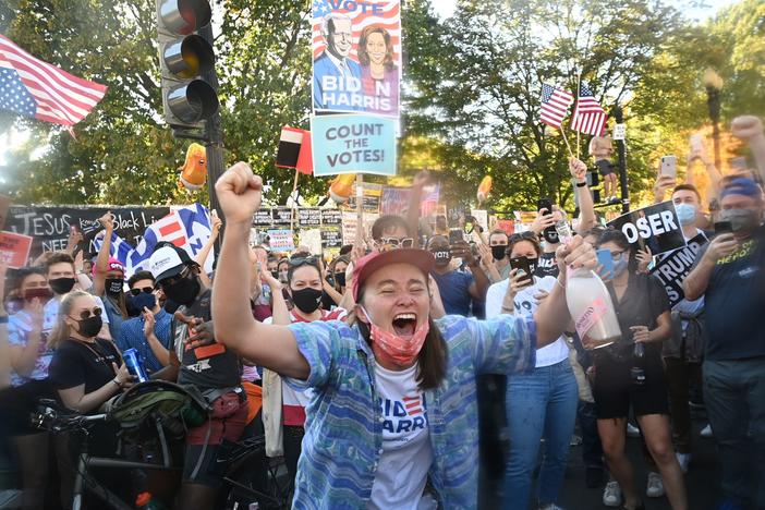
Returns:
[[[508,244],[508,253],[510,264],[514,267],[510,271],[510,278],[489,287],[486,295],[487,319],[501,314],[532,317],[539,302],[557,284],[555,277],[534,276],[542,248],[533,232],[513,234]],[[506,294],[511,302],[506,301]],[[538,499],[539,508],[558,502],[578,403],[576,379],[569,363],[569,348],[562,336],[536,350],[533,372],[508,377],[506,405],[510,452],[502,509],[529,508],[532,477],[543,437],[546,448],[535,499]]]

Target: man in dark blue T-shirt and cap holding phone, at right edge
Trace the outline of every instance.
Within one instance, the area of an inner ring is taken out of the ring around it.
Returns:
[[[704,296],[704,403],[720,452],[725,497],[740,508],[765,508],[765,229],[762,187],[728,181],[720,193],[721,233],[696,255],[683,281],[687,300]]]

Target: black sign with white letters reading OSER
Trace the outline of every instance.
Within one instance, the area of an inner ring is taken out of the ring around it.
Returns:
[[[678,214],[671,201],[622,215],[609,221],[608,227],[621,230],[629,243],[641,250],[647,245],[654,255],[685,245]]]

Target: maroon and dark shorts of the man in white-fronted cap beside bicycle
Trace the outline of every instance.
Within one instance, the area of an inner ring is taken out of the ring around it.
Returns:
[[[212,402],[209,420],[186,433],[184,482],[208,487],[220,485],[231,448],[242,436],[247,423],[247,412],[244,393],[240,397],[230,391]]]

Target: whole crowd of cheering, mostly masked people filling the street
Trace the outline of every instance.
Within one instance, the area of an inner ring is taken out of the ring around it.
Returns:
[[[689,401],[703,392],[720,464],[721,501],[709,508],[765,508],[765,136],[751,117],[732,131],[752,169],[722,175],[704,151],[689,157],[712,177],[708,214],[692,180],[657,179],[656,202],[671,191],[685,241],[705,242],[672,306],[651,274],[671,254],[604,227],[574,158],[574,218],[552,205],[511,234],[475,224],[445,235],[416,215],[381,216],[332,260],[302,246],[271,253],[248,242],[263,182],[236,163],[216,185],[226,234],[214,272],[203,268],[221,220],[196,259],[160,242],[125,278],[108,214],[92,264],[54,252],[0,267],[0,427],[22,508],[70,508],[75,462],[72,437],[28,416],[40,399],[100,412],[139,384],[129,351],[150,378],[208,404],[186,423],[168,507],[220,508],[228,452],[259,436],[283,458],[294,508],[561,508],[579,424],[583,482],[604,487],[605,506],[666,495],[688,509]],[[426,182],[415,181],[410,210]],[[567,223],[563,239],[556,227]],[[567,303],[580,268],[605,282],[621,330],[596,350]],[[651,470],[640,483],[626,450],[633,430]],[[119,436],[107,423],[89,448],[117,454]],[[134,476],[111,483],[127,498],[146,489]]]

